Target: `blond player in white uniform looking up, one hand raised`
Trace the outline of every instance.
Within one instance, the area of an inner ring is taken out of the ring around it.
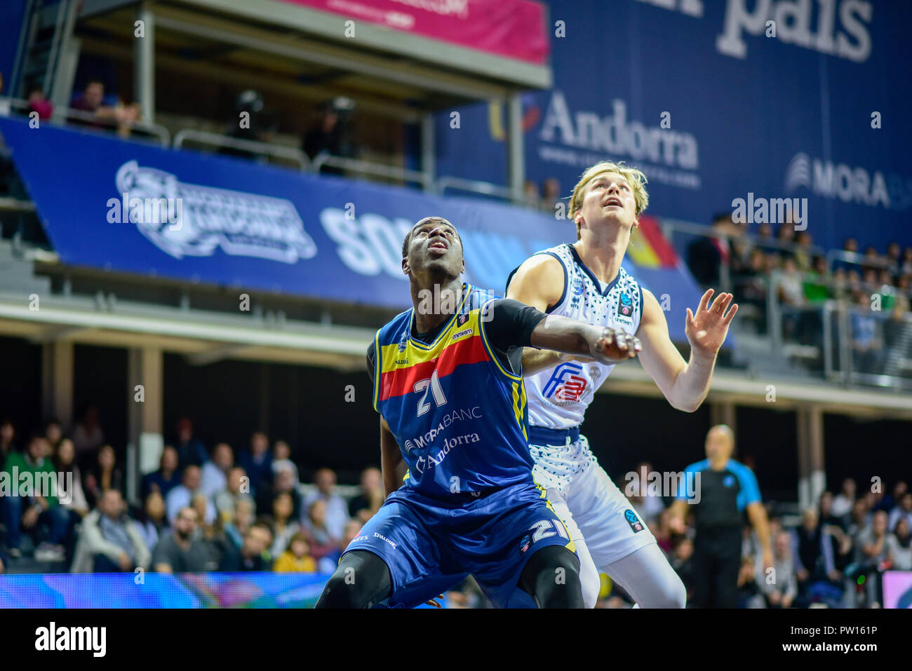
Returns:
[[[690,358],[668,337],[656,297],[621,261],[637,217],[648,205],[646,176],[610,161],[586,170],[570,200],[576,242],[535,253],[507,280],[507,297],[554,315],[623,329],[639,360],[672,407],[693,412],[710,391],[716,355],[738,305],[731,294],[703,294],[687,310]],[[731,305],[731,309],[729,309]],[[599,573],[607,573],[642,608],[683,608],[686,590],[633,505],[608,478],[580,435],[586,408],[614,366],[526,348],[529,442],[535,480],[576,543],[587,607],[596,604]]]

